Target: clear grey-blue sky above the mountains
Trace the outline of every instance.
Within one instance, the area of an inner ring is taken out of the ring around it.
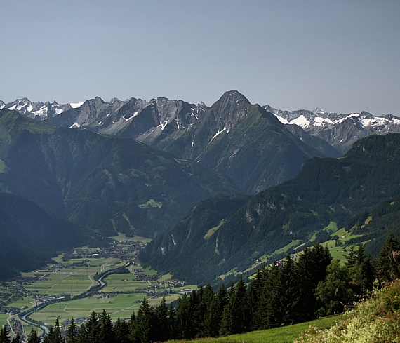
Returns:
[[[0,100],[227,90],[277,109],[400,116],[398,0],[3,0]]]

